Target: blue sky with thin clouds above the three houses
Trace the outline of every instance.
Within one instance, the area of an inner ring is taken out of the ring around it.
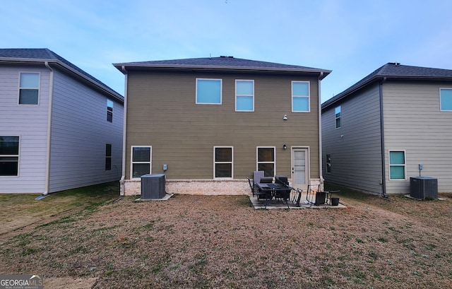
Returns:
[[[48,48],[124,95],[113,63],[233,56],[331,70],[452,69],[450,0],[2,0],[0,48]]]

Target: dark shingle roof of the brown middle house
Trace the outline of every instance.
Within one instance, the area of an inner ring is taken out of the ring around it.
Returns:
[[[307,72],[307,73],[323,73],[323,78],[331,71],[326,69],[315,69],[306,66],[278,64],[266,61],[256,61],[249,59],[240,59],[235,57],[206,57],[206,58],[190,58],[190,59],[172,59],[157,61],[140,61],[113,64],[117,69],[121,70],[124,66],[130,68],[149,68],[149,69],[230,69],[230,70],[249,70],[249,71],[279,71],[279,72]]]

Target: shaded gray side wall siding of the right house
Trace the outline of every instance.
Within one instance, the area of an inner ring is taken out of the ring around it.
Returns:
[[[341,107],[341,127],[335,128],[335,107]],[[323,178],[346,187],[380,192],[381,129],[379,85],[360,90],[322,113]],[[326,155],[331,155],[331,173]]]

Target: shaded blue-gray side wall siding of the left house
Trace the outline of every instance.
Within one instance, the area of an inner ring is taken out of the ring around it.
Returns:
[[[113,122],[107,122],[107,97],[55,70],[49,191],[119,180],[123,122],[121,104],[114,102]],[[106,143],[112,144],[110,171]]]

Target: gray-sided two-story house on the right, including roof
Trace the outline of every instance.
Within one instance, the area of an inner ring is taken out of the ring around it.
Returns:
[[[452,191],[452,70],[388,63],[321,111],[327,182],[408,194],[422,175]]]

